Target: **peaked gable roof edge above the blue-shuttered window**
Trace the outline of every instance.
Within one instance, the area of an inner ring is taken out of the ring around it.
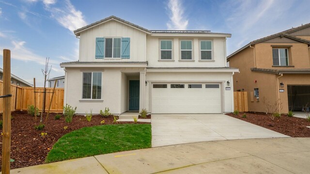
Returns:
[[[100,25],[100,24],[102,24],[102,23],[108,22],[108,21],[110,21],[110,20],[119,21],[119,22],[121,22],[121,23],[124,23],[124,24],[126,24],[126,25],[131,26],[131,27],[134,27],[134,28],[136,28],[136,29],[138,29],[138,30],[140,30],[140,31],[146,32],[146,33],[148,33],[148,34],[151,33],[151,31],[149,31],[149,30],[147,30],[147,29],[145,29],[145,28],[143,28],[143,27],[140,27],[139,25],[133,24],[133,23],[131,23],[131,22],[128,22],[128,21],[126,21],[126,20],[124,20],[124,19],[121,19],[121,18],[119,18],[119,17],[116,17],[116,16],[109,16],[109,17],[107,17],[107,18],[104,18],[104,19],[102,19],[102,20],[99,20],[99,21],[97,21],[97,22],[94,22],[94,23],[89,24],[89,25],[87,25],[87,26],[85,26],[85,27],[82,27],[82,28],[79,28],[79,29],[75,30],[75,31],[74,31],[74,34],[75,34],[76,36],[79,36],[79,33],[80,33],[80,32],[82,32],[82,31],[84,31],[84,30],[87,30],[87,29],[90,29],[90,28],[93,28],[94,26]]]

